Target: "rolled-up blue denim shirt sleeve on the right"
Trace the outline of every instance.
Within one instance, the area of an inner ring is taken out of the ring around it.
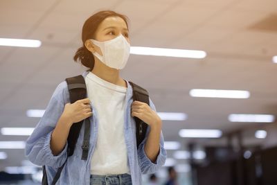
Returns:
[[[154,103],[152,103],[152,100],[150,99],[150,107],[155,112],[157,112],[156,107],[154,106]],[[155,173],[163,164],[166,162],[166,150],[164,148],[164,141],[163,141],[163,132],[161,131],[161,137],[160,137],[160,150],[159,155],[157,157],[157,160],[153,163],[148,156],[145,154],[144,147],[146,140],[148,138],[148,134],[150,132],[150,127],[148,127],[148,130],[146,132],[145,139],[141,142],[138,148],[138,157],[139,157],[139,166],[141,168],[141,173],[143,174],[149,174],[149,173]]]

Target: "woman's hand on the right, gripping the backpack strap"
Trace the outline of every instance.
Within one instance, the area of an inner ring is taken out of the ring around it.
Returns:
[[[161,127],[161,118],[147,103],[134,101],[132,103],[131,115],[140,118],[150,127]]]

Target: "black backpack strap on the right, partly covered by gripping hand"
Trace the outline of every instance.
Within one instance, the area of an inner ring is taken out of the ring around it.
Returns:
[[[133,82],[129,82],[133,88],[133,100],[138,100],[143,103],[149,104],[149,94],[148,91],[140,87],[139,85],[134,84]],[[144,123],[140,118],[134,117],[136,121],[136,147],[139,148],[139,145],[145,138],[146,130],[148,128],[148,124]]]

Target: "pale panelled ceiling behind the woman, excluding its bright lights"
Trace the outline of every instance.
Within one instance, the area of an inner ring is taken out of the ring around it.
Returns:
[[[73,62],[82,45],[82,24],[93,12],[111,9],[129,17],[132,46],[207,53],[204,59],[130,55],[121,71],[123,78],[148,89],[158,112],[188,115],[186,121],[163,121],[166,141],[180,141],[183,148],[192,141],[226,143],[224,138],[182,139],[182,128],[224,134],[243,128],[249,145],[267,141],[254,138],[256,129],[277,133],[274,123],[228,121],[233,113],[277,113],[276,0],[2,0],[0,5],[0,37],[42,41],[33,49],[0,46],[0,127],[35,127],[39,118],[27,117],[26,110],[45,109],[60,82],[86,69]],[[247,90],[251,97],[193,98],[190,89]],[[0,141],[26,139],[0,134]],[[1,151],[8,158],[0,160],[0,170],[21,166],[25,159],[24,150]]]

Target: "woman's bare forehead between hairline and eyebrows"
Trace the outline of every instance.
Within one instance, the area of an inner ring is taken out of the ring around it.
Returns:
[[[107,27],[126,28],[127,25],[121,17],[107,17],[98,26],[98,30],[104,30]]]

